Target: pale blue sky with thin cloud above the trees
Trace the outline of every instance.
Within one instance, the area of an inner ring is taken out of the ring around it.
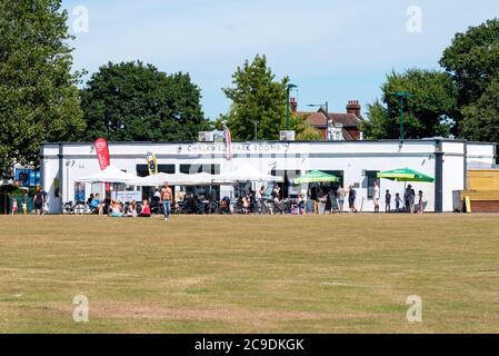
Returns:
[[[457,32],[499,17],[497,0],[63,0],[76,40],[74,69],[89,76],[112,61],[141,60],[189,72],[202,108],[229,110],[221,88],[244,60],[266,55],[288,76],[299,109],[380,97],[387,73],[438,69]],[[88,77],[87,77],[88,78]]]

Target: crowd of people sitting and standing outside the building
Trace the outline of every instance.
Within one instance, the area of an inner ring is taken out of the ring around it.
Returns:
[[[373,182],[370,197],[375,205],[375,212],[380,211],[380,188]],[[109,215],[111,217],[150,217],[152,214],[162,214],[166,221],[170,212],[178,214],[326,214],[326,212],[358,212],[357,190],[350,185],[343,188],[339,185],[311,185],[307,194],[286,197],[279,184],[267,188],[261,186],[258,190],[249,188],[240,194],[236,200],[223,197],[220,201],[212,201],[207,195],[199,198],[197,195],[186,196],[177,200],[168,182],[161,189],[156,189],[149,199],[141,202],[131,201],[122,204],[107,196],[101,199],[100,194],[91,194],[87,200],[89,212]],[[37,191],[33,198],[37,210],[43,205],[43,195]],[[395,206],[392,206],[395,202]],[[411,185],[408,185],[403,194],[396,192],[395,197],[390,190],[385,191],[386,212],[423,212],[423,194],[416,194]],[[393,209],[395,207],[395,209]],[[42,209],[41,209],[42,210]]]

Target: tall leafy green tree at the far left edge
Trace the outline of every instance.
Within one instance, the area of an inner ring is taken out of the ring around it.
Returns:
[[[0,174],[83,130],[60,0],[0,2]]]

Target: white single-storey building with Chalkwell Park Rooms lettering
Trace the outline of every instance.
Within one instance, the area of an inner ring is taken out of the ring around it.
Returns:
[[[111,165],[138,176],[148,175],[148,152],[156,155],[159,171],[170,174],[223,174],[250,164],[261,171],[283,176],[285,194],[307,191],[307,185],[293,186],[292,179],[312,169],[322,170],[339,177],[340,185],[356,187],[357,208],[362,211],[373,210],[370,198],[378,171],[410,168],[433,177],[435,182],[413,182],[412,186],[416,191],[422,190],[426,211],[440,212],[453,210],[452,191],[466,189],[468,169],[487,168],[496,162],[496,144],[448,139],[233,142],[229,160],[224,144],[218,142],[109,144]],[[102,194],[102,185],[77,182],[99,169],[92,142],[42,144],[41,184],[49,194],[50,212],[60,212],[63,202],[73,201],[76,194],[79,197]],[[390,190],[395,197],[396,192],[402,195],[403,187],[403,182],[380,180],[381,210],[385,191]],[[216,191],[217,198],[238,195],[238,189],[230,186]]]

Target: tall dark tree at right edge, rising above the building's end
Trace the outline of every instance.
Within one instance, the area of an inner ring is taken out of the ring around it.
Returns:
[[[466,33],[457,33],[440,65],[458,88],[461,110],[456,117],[456,134],[468,139],[499,142],[496,134],[499,131],[499,20],[489,20],[470,27]],[[480,128],[480,125],[483,126]]]

